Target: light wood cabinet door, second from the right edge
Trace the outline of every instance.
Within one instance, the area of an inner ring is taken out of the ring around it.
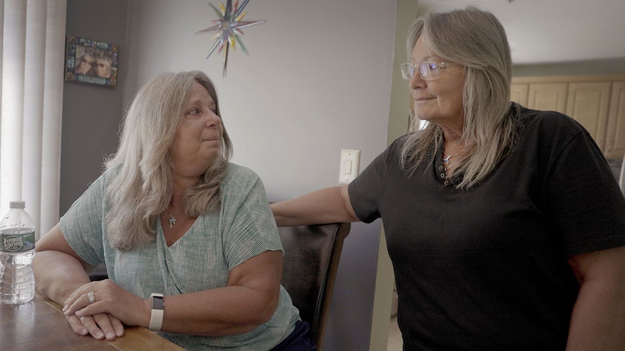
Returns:
[[[571,82],[566,97],[566,114],[586,128],[601,151],[605,151],[611,85],[611,82]]]

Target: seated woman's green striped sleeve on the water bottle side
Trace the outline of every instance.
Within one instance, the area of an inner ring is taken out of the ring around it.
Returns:
[[[106,172],[105,172],[106,174]],[[103,199],[105,175],[101,175],[61,217],[59,225],[69,246],[91,265],[104,263]]]

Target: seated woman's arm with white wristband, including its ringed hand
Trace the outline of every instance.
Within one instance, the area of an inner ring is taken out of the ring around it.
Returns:
[[[242,334],[271,319],[280,297],[282,253],[265,251],[229,272],[226,287],[164,297],[161,330],[181,334]],[[95,300],[89,304],[88,292]],[[149,326],[151,301],[136,304],[111,280],[84,285],[68,301],[66,315],[109,313],[124,324]],[[134,296],[134,295],[133,295]]]

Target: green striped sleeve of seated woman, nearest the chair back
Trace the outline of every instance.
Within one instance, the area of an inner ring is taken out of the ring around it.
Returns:
[[[282,250],[261,179],[256,178],[224,230],[224,255],[230,270],[267,250]]]

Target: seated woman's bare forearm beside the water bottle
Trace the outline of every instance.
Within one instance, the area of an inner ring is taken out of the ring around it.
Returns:
[[[63,252],[37,252],[32,260],[32,269],[37,289],[61,305],[74,290],[89,282],[81,262]]]

